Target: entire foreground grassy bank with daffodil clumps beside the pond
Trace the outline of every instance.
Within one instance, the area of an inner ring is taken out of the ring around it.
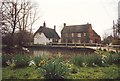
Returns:
[[[96,50],[94,54],[30,56],[2,55],[6,79],[120,79],[120,53]]]

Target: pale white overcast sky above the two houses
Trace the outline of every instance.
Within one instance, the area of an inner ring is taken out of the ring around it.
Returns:
[[[34,32],[46,22],[61,35],[63,23],[82,25],[90,23],[92,28],[103,37],[112,33],[113,20],[118,19],[119,0],[34,0],[40,19],[34,25]]]

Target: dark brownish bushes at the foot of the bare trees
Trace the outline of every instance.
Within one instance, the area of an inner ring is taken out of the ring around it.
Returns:
[[[2,37],[2,41],[3,45],[7,45],[8,47],[11,47],[12,44],[14,46],[23,46],[33,42],[33,34],[29,31],[16,32],[14,33],[14,36],[12,36],[11,33],[8,33]]]

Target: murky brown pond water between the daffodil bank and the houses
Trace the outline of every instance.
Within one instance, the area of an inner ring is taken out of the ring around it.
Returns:
[[[29,50],[29,52],[28,52]],[[83,54],[94,54],[94,50],[92,49],[77,49],[77,48],[27,48],[25,51],[20,51],[19,49],[4,49],[3,52],[6,53],[14,53],[14,54],[22,54],[27,53],[31,56],[38,55],[48,55],[48,56],[57,56],[62,55],[66,59],[73,55],[83,55]]]

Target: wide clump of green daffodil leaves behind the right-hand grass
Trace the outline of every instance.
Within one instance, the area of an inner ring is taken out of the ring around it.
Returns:
[[[80,55],[72,58],[72,63],[80,67],[105,66],[101,55]]]

